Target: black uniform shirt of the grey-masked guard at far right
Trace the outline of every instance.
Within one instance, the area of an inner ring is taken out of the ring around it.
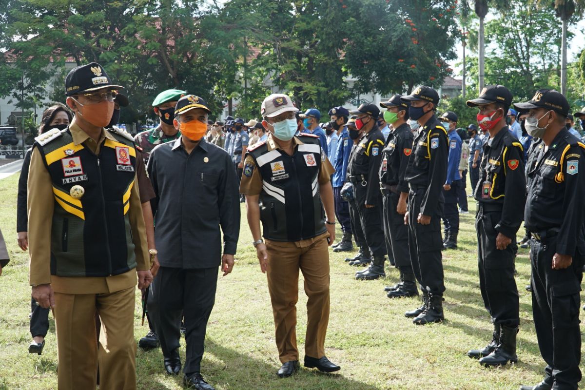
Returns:
[[[536,165],[529,169],[525,225],[533,233],[559,229],[556,252],[573,255],[583,240],[585,145],[563,128],[546,147],[536,149]]]

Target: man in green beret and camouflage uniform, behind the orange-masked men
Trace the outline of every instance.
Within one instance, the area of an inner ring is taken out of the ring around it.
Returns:
[[[152,102],[154,113],[160,118],[159,126],[153,130],[138,133],[134,137],[135,143],[142,148],[144,163],[148,162],[150,151],[155,146],[174,141],[181,136],[181,133],[173,126],[173,119],[175,118],[175,105],[178,99],[186,93],[180,89],[167,89],[160,92]]]

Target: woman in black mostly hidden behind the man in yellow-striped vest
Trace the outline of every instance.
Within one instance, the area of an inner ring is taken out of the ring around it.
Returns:
[[[47,108],[43,112],[39,126],[39,134],[50,129],[65,129],[73,115],[68,109],[61,104]],[[18,199],[16,201],[16,232],[18,232],[18,246],[22,250],[29,247],[28,239],[28,215],[26,212],[26,192],[27,180],[29,177],[30,153],[32,149],[26,151],[25,160],[22,163],[20,178],[18,180]],[[43,309],[38,306],[35,299],[30,299],[30,334],[33,341],[29,346],[29,353],[41,354],[44,348],[44,336],[49,330],[49,309]]]

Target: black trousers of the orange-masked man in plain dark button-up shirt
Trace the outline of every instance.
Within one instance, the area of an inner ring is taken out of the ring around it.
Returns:
[[[181,316],[185,321],[187,357],[183,372],[201,371],[207,321],[215,303],[218,268],[183,270],[160,267],[150,285],[148,310],[154,317],[165,357],[178,356]]]

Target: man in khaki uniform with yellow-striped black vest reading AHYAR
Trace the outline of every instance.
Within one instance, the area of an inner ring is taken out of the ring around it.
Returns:
[[[74,68],[65,85],[75,118],[37,137],[30,161],[32,296],[54,309],[59,390],[95,389],[98,361],[102,389],[133,390],[136,279],[139,288],[152,281],[136,150],[104,129],[118,86],[101,65]]]

